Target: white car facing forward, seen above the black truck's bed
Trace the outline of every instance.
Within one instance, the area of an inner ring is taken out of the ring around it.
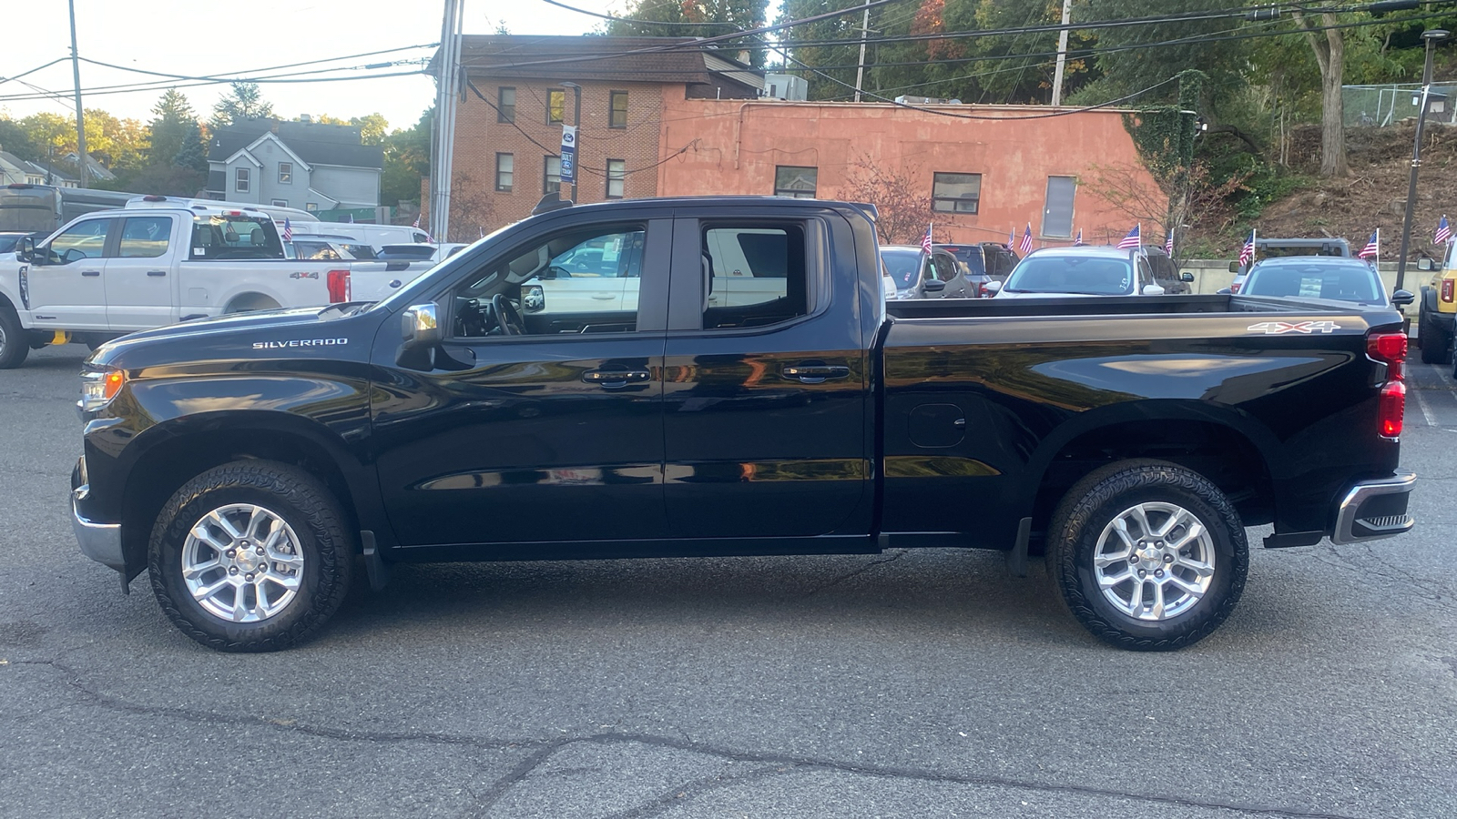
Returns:
[[[998,299],[1050,296],[1163,296],[1148,256],[1141,251],[1107,245],[1043,248],[1017,262],[1000,287]]]

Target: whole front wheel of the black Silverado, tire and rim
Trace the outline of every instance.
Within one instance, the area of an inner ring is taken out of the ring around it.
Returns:
[[[172,622],[210,648],[287,648],[348,593],[347,532],[338,503],[307,472],[226,463],[188,481],[157,516],[152,590]]]

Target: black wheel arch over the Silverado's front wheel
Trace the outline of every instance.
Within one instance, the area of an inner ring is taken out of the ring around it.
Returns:
[[[127,579],[131,580],[147,564],[147,544],[157,513],[172,494],[192,478],[235,461],[270,461],[297,466],[319,478],[338,501],[351,532],[361,529],[358,507],[360,481],[350,481],[345,469],[358,463],[344,449],[332,443],[310,421],[294,418],[280,424],[262,414],[216,418],[194,415],[159,424],[133,442],[143,450],[125,466],[128,475],[122,493],[122,549],[127,558]],[[249,417],[252,415],[252,417]]]

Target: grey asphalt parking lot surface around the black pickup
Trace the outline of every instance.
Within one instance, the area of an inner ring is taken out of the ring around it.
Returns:
[[[1179,653],[927,549],[402,567],[229,656],[76,548],[83,353],[0,373],[0,816],[1457,816],[1450,369],[1412,364],[1418,529],[1253,549]]]

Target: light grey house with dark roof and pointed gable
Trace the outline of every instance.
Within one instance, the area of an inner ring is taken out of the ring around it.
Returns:
[[[207,154],[208,195],[303,210],[379,205],[380,146],[356,125],[249,119],[219,128]]]

